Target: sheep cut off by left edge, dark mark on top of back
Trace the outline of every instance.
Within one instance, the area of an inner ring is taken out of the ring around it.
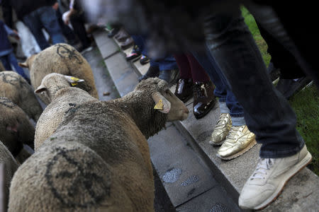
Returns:
[[[33,93],[33,88],[14,71],[0,72],[0,97],[9,98],[35,122],[43,112],[43,108]]]

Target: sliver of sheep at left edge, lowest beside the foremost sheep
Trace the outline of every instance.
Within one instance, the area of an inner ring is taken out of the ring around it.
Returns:
[[[10,153],[8,148],[4,146],[4,143],[0,141],[0,164],[2,165],[1,167],[1,172],[3,172],[4,175],[1,175],[2,177],[2,182],[4,186],[4,191],[3,192],[3,197],[4,197],[4,206],[6,209],[6,206],[8,204],[8,199],[6,198],[9,196],[9,187],[10,187],[10,182],[13,177],[14,172],[18,169],[18,163],[16,162],[16,159],[13,158],[13,155]],[[5,210],[6,211],[6,210]]]

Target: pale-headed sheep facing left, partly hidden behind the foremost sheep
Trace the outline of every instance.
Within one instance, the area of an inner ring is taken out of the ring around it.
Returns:
[[[77,82],[82,83],[82,79]],[[57,129],[67,110],[72,110],[72,107],[83,102],[96,100],[85,90],[70,87],[70,83],[77,82],[70,76],[50,73],[43,78],[41,85],[35,90],[35,93],[46,92],[45,95],[50,102],[35,126],[35,151]]]

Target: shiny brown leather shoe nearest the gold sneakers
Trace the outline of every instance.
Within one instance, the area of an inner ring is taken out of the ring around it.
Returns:
[[[214,88],[215,86],[211,81],[195,83],[193,112],[196,119],[204,117],[215,106]]]

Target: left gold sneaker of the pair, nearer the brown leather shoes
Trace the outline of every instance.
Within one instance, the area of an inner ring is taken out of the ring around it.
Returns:
[[[231,126],[232,119],[230,117],[230,114],[221,113],[215,129],[211,134],[211,141],[209,141],[209,144],[213,146],[220,146],[223,141],[225,141]]]

